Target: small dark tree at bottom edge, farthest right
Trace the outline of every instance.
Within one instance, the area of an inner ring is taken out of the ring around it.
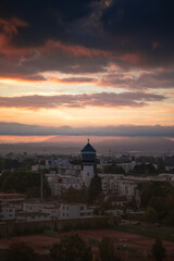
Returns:
[[[162,261],[165,258],[165,248],[159,238],[156,239],[151,249],[151,253],[156,261]]]

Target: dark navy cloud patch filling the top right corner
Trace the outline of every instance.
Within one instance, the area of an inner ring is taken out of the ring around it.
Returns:
[[[113,0],[101,22],[115,50],[139,53],[145,63],[161,63],[174,57],[173,13],[172,0]]]

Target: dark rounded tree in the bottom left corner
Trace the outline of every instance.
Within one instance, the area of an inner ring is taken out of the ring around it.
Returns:
[[[7,261],[36,261],[38,254],[25,243],[18,241],[12,244],[8,249]]]

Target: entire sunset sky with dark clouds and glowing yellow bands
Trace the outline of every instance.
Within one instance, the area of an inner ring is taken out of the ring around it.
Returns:
[[[174,138],[174,1],[1,0],[0,135]]]

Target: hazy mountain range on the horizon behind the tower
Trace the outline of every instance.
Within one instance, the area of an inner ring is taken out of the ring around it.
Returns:
[[[69,137],[67,137],[69,139]],[[78,138],[77,138],[78,139]],[[23,152],[28,153],[79,153],[80,149],[85,146],[86,140],[79,141],[62,141],[60,138],[49,138],[44,142],[18,142],[18,144],[0,144],[0,153],[7,152]],[[95,138],[94,138],[95,139]],[[165,138],[120,138],[120,139],[103,139],[102,141],[94,141],[94,147],[98,153],[123,153],[123,152],[137,152],[137,153],[174,153],[174,141]]]

